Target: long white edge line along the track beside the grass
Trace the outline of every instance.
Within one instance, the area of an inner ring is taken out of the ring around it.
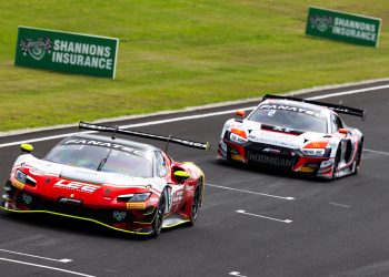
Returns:
[[[361,92],[383,90],[383,89],[388,89],[388,88],[389,88],[389,85],[378,85],[378,86],[371,86],[371,88],[366,88],[366,89],[342,91],[342,92],[336,92],[336,93],[330,93],[330,94],[326,94],[326,95],[312,96],[312,98],[308,98],[308,100],[328,99],[328,98],[335,98],[335,96],[340,96],[340,95],[348,95],[348,94],[356,94],[356,93],[361,93]],[[252,110],[256,106],[249,106],[249,107],[242,107],[240,110],[248,111],[248,110]],[[228,110],[228,111],[213,112],[213,113],[187,115],[187,116],[180,116],[180,117],[172,117],[172,119],[168,119],[168,120],[159,120],[159,121],[150,121],[150,122],[144,122],[144,123],[138,123],[138,124],[123,125],[123,126],[120,126],[120,127],[122,127],[122,129],[140,127],[140,126],[149,126],[149,125],[171,123],[171,122],[177,122],[177,121],[197,120],[197,119],[203,119],[203,117],[210,117],[210,116],[216,116],[216,115],[233,113],[236,110]],[[81,132],[81,133],[88,134],[88,133],[94,133],[94,132],[93,131],[87,131],[87,132]],[[74,133],[66,133],[66,134],[59,134],[59,135],[52,135],[52,136],[36,137],[36,138],[18,141],[18,142],[3,143],[3,144],[0,144],[0,148],[18,145],[18,144],[22,144],[22,143],[33,143],[33,142],[42,142],[42,141],[62,138],[62,137],[67,137],[67,136],[69,136],[71,134],[74,134]]]

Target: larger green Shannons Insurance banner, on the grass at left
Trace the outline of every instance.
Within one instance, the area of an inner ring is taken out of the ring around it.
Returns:
[[[18,28],[16,65],[114,79],[119,40]]]

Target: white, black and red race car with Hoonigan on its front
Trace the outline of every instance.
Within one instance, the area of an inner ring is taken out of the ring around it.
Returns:
[[[341,104],[265,95],[246,119],[237,111],[225,123],[217,158],[327,179],[357,174],[363,134],[338,113],[365,119],[365,111]]]

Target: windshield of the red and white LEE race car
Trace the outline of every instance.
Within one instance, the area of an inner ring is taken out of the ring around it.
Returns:
[[[152,177],[152,158],[139,150],[130,153],[97,145],[60,144],[43,160],[93,171]]]

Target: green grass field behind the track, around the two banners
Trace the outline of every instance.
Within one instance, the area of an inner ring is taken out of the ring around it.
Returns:
[[[382,18],[379,48],[303,34],[309,4]],[[389,76],[387,0],[0,0],[0,131]],[[18,25],[120,39],[117,79],[13,65]]]

